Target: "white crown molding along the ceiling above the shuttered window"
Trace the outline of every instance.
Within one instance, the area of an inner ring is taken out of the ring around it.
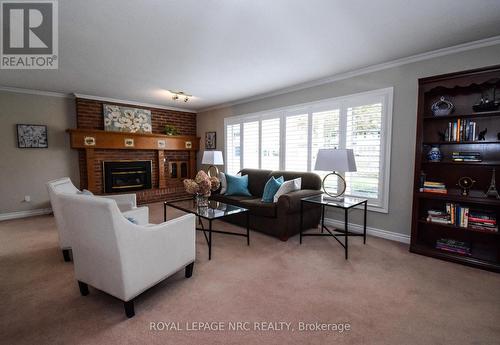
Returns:
[[[360,76],[363,74],[382,71],[385,69],[398,67],[398,66],[402,66],[402,65],[407,65],[410,63],[418,62],[418,61],[429,60],[429,59],[433,59],[433,58],[437,58],[437,57],[441,57],[441,56],[445,56],[445,55],[450,55],[450,54],[460,53],[460,52],[464,52],[464,51],[468,51],[468,50],[489,47],[489,46],[493,46],[493,45],[497,45],[497,44],[500,44],[500,36],[493,36],[493,37],[485,38],[485,39],[478,40],[478,41],[472,41],[472,42],[467,42],[467,43],[463,43],[463,44],[458,44],[458,45],[447,47],[447,48],[432,50],[429,52],[411,55],[408,57],[404,57],[404,58],[400,58],[400,59],[396,59],[396,60],[392,60],[392,61],[388,61],[388,62],[376,64],[376,65],[371,65],[371,66],[366,66],[366,67],[354,69],[354,70],[344,72],[344,73],[334,74],[334,75],[331,75],[331,76],[326,77],[326,78],[321,78],[321,79],[312,80],[310,82],[296,84],[294,86],[278,89],[276,91],[272,91],[269,93],[263,93],[263,94],[259,94],[259,95],[255,95],[255,96],[251,96],[251,97],[247,97],[247,98],[242,98],[242,99],[236,100],[234,102],[221,103],[221,104],[211,106],[208,108],[200,109],[200,110],[198,110],[198,113],[227,108],[227,107],[232,107],[232,106],[235,106],[238,104],[253,102],[253,101],[257,101],[257,100],[261,100],[261,99],[273,97],[273,96],[279,96],[279,95],[283,95],[283,94],[294,92],[294,91],[300,91],[300,90],[312,88],[315,86],[329,84],[329,83],[332,83],[332,82],[338,81],[338,80],[357,77],[357,76]]]

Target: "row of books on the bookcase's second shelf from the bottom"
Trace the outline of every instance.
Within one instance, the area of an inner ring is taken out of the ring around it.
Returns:
[[[449,224],[482,232],[498,232],[496,214],[489,211],[470,210],[469,207],[446,203],[445,210],[427,210],[429,223]]]

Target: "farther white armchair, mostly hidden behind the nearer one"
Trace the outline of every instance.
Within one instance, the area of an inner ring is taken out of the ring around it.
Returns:
[[[69,177],[47,182],[47,190],[59,233],[59,247],[62,249],[64,261],[71,261],[69,254],[71,236],[61,215],[62,204],[59,196],[61,194],[78,194],[79,190],[73,185]],[[146,206],[137,207],[135,194],[106,195],[104,197],[115,200],[125,217],[133,218],[137,224],[148,224],[149,209]]]

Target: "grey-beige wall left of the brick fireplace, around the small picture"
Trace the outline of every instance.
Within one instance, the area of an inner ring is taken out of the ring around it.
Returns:
[[[76,127],[73,99],[0,91],[0,120],[0,216],[50,207],[50,179],[69,176],[79,185],[78,154],[65,132]],[[17,148],[18,123],[47,125],[49,147]]]

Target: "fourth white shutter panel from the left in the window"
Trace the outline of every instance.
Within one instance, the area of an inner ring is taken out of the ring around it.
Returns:
[[[307,171],[308,114],[286,117],[285,169]]]

